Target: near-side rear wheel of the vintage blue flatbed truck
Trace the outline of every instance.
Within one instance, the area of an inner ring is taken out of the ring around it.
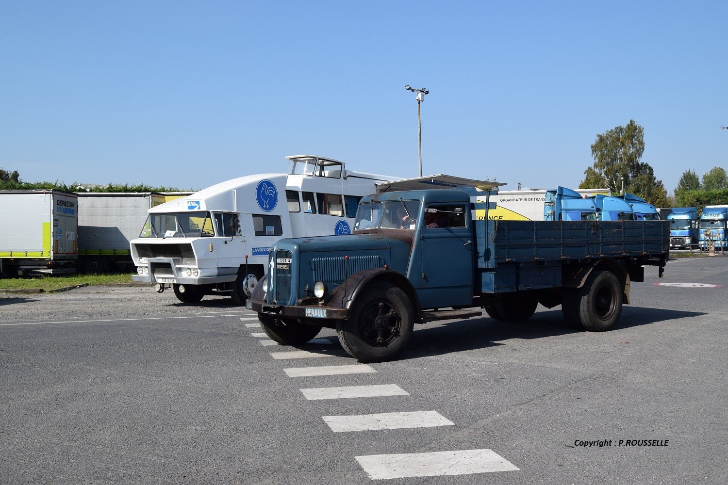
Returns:
[[[622,314],[622,284],[614,273],[593,270],[579,288],[579,321],[590,332],[604,332]]]

